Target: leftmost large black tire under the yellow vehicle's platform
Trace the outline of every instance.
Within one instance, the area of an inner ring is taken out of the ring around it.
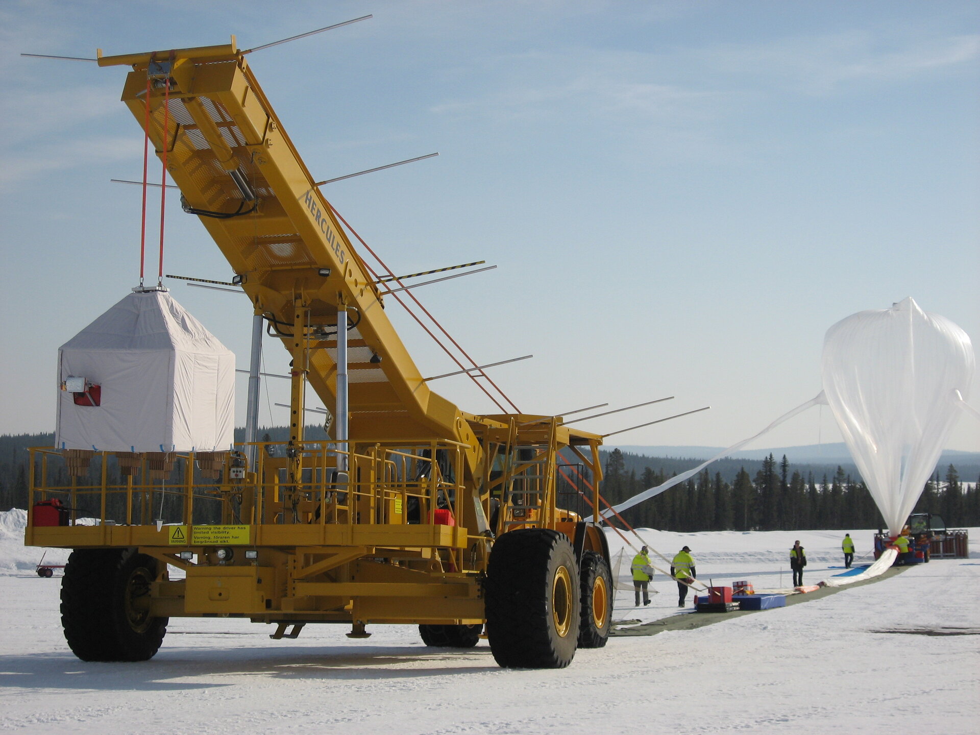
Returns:
[[[149,613],[158,563],[134,549],[76,549],[65,566],[61,613],[65,640],[82,661],[147,661],[167,633]]]

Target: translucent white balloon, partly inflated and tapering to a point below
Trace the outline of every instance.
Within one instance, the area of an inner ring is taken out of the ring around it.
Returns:
[[[827,330],[823,392],[893,536],[939,461],[973,369],[966,333],[910,298]]]

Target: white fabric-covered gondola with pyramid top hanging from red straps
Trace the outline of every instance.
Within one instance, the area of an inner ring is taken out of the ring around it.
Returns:
[[[60,449],[213,452],[231,446],[234,354],[166,290],[128,294],[62,345],[58,369]],[[99,405],[78,405],[65,389],[69,377],[98,385]]]

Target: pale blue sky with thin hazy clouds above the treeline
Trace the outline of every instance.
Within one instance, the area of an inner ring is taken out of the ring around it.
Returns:
[[[252,47],[368,13],[250,64],[318,179],[440,153],[323,191],[396,272],[499,266],[417,295],[477,362],[534,354],[493,372],[524,412],[676,396],[579,425],[711,405],[616,440],[728,446],[819,392],[850,314],[911,296],[980,341],[975,0],[5,0],[0,432],[53,430],[58,346],[138,275],[140,189],[110,182],[142,169],[126,70],[20,52]],[[176,197],[167,215],[166,272],[231,275]],[[168,285],[247,367],[248,301]],[[422,373],[452,369],[397,309]],[[494,411],[465,377],[433,387]],[[756,446],[839,440],[824,408]],[[948,446],[980,451],[980,424]]]

